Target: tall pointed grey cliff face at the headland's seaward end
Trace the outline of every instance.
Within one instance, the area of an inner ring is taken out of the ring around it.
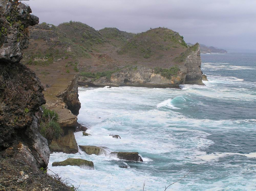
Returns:
[[[187,68],[186,84],[199,84],[202,82],[200,46],[195,44],[195,51],[191,51],[185,59],[185,67]]]

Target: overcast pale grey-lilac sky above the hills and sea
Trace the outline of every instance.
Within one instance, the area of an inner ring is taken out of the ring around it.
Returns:
[[[167,27],[186,42],[255,50],[256,0],[30,0],[41,22],[80,21],[96,30]]]

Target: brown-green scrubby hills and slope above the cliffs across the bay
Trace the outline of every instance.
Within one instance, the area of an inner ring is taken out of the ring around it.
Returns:
[[[22,62],[47,86],[48,100],[64,91],[74,74],[98,78],[134,65],[170,68],[184,65],[189,50],[178,32],[162,27],[134,34],[97,31],[81,22],[41,23],[30,28],[30,37]]]

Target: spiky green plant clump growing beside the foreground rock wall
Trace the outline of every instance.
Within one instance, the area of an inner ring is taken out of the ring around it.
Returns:
[[[58,140],[63,134],[62,129],[57,122],[58,114],[50,109],[47,109],[46,106],[42,106],[43,115],[42,121],[40,123],[40,133],[44,136],[49,142],[52,140]]]

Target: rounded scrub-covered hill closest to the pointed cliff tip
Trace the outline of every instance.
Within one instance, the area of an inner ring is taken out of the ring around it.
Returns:
[[[173,30],[159,27],[134,35],[117,52],[150,58],[158,52],[178,47],[188,47],[183,37]]]

